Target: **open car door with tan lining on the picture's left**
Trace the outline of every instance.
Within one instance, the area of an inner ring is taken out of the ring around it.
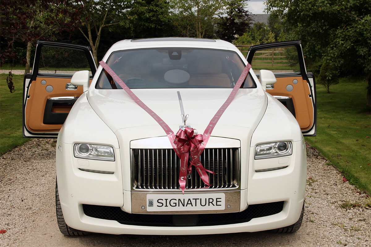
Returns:
[[[37,41],[32,73],[23,82],[23,137],[57,137],[82,86],[70,84],[72,75],[96,64],[88,46]]]

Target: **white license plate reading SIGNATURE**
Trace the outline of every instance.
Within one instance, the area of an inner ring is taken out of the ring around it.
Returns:
[[[147,211],[224,210],[224,193],[147,194]]]

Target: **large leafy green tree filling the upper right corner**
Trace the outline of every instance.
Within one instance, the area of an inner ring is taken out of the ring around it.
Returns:
[[[309,64],[319,63],[318,67],[324,70],[320,74],[326,78],[337,75],[370,78],[369,0],[267,0],[266,3],[267,11],[283,20],[288,38],[302,40]]]

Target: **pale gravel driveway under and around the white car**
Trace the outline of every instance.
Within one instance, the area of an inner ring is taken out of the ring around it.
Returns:
[[[309,147],[303,224],[294,234],[65,237],[55,216],[55,142],[34,139],[0,157],[0,246],[371,246],[370,198]]]

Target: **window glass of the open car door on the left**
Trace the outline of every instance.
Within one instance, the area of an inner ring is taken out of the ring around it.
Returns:
[[[39,60],[39,75],[73,75],[79,70],[91,71],[86,54],[83,51],[42,46]]]

